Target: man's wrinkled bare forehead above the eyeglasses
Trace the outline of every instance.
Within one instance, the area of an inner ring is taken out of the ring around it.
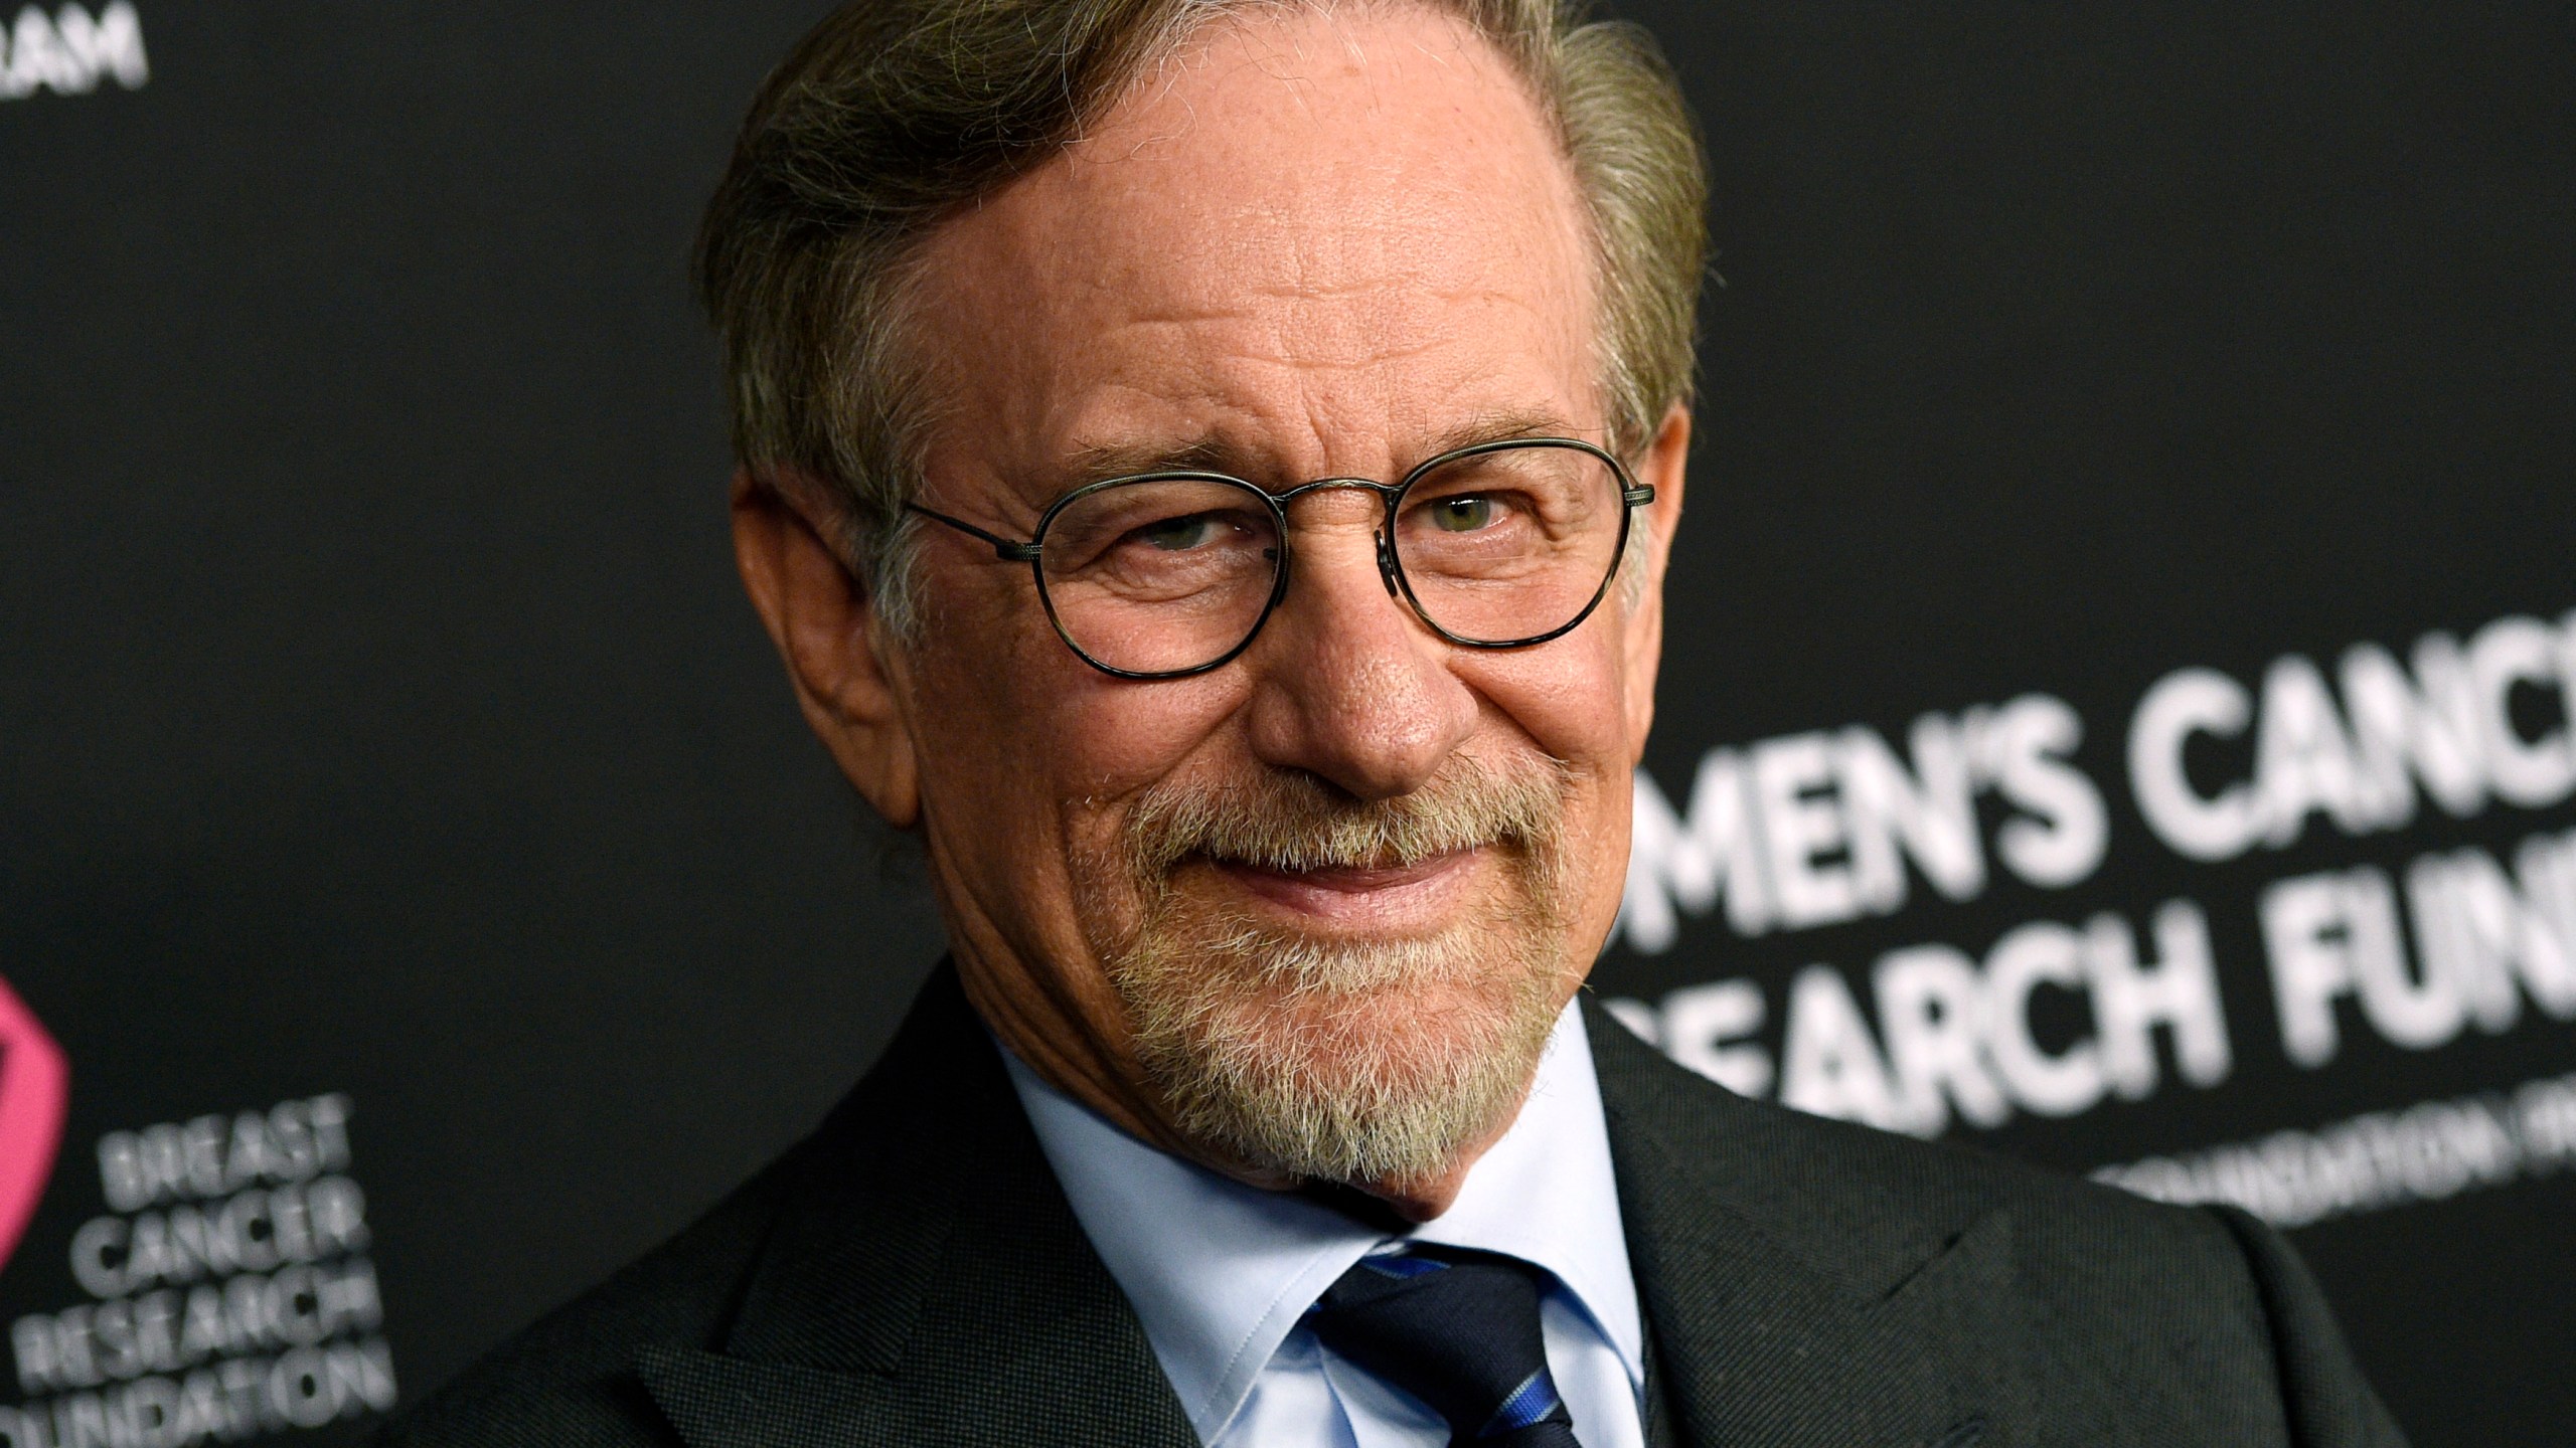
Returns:
[[[1597,415],[1571,167],[1510,62],[1422,8],[1206,26],[922,276],[935,453],[1216,435],[1383,472],[1458,415]]]

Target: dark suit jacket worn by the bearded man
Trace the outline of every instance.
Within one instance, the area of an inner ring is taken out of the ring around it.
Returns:
[[[1656,1443],[2401,1443],[2257,1221],[1741,1100],[1587,1023]],[[1195,1435],[943,969],[814,1136],[386,1443]]]

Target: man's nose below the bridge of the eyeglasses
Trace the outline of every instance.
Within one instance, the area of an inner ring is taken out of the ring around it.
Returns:
[[[1394,799],[1430,783],[1476,729],[1476,696],[1453,644],[1391,595],[1376,554],[1376,505],[1324,495],[1309,508],[1288,598],[1244,662],[1249,732],[1262,763]]]

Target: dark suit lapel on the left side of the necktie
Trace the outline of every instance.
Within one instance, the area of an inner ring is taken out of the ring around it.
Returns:
[[[636,1371],[690,1448],[1193,1448],[945,966],[804,1147],[716,1353]]]

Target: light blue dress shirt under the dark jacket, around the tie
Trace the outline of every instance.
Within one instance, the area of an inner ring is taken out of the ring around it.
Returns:
[[[1448,1425],[1316,1342],[1298,1317],[1383,1232],[1247,1188],[1118,1131],[1002,1051],[1046,1159],[1208,1448],[1445,1448]],[[1520,1118],[1412,1242],[1507,1252],[1553,1273],[1548,1373],[1584,1448],[1643,1448],[1636,1281],[1582,1015],[1548,1036]]]

